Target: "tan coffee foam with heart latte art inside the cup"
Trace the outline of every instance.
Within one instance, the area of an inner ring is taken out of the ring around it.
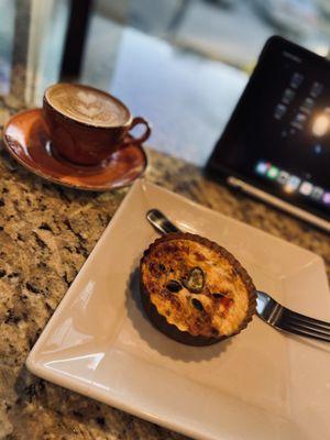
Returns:
[[[89,125],[120,127],[130,120],[120,101],[92,87],[56,84],[46,90],[45,98],[62,114]]]

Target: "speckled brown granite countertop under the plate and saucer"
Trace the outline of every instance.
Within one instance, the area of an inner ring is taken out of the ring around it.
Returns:
[[[14,98],[0,98],[0,129],[21,108]],[[151,148],[147,154],[148,180],[318,253],[329,274],[326,233],[206,179],[194,165]],[[30,174],[3,150],[0,175],[0,438],[184,439],[40,380],[24,366],[129,189],[63,188]]]

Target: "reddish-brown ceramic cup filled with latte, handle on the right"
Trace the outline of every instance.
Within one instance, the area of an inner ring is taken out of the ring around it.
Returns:
[[[151,134],[146,120],[133,118],[119,99],[89,86],[62,82],[48,87],[43,112],[52,148],[78,165],[99,165],[117,150],[141,144]],[[130,130],[139,124],[144,132],[134,138]]]

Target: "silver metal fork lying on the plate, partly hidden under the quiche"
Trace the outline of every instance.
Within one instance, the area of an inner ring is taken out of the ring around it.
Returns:
[[[146,218],[163,234],[180,232],[158,209],[151,209],[146,213]],[[256,297],[257,316],[270,326],[300,337],[330,342],[330,322],[293,311],[264,292],[256,290]]]

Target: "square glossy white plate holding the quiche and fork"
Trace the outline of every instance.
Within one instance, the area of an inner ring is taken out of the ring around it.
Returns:
[[[330,352],[255,317],[239,336],[186,346],[141,310],[136,267],[163,210],[232,252],[255,285],[330,320],[322,260],[257,229],[138,180],[30,353],[34,374],[198,439],[330,438]]]

